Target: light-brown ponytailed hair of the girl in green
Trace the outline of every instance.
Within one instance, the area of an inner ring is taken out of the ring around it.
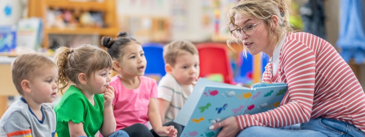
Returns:
[[[58,90],[64,94],[70,84],[79,84],[78,75],[85,73],[87,78],[105,68],[112,68],[113,61],[104,49],[92,45],[82,45],[75,49],[59,47],[55,52],[58,66]]]

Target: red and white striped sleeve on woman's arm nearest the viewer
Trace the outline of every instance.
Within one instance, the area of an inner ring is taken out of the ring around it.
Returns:
[[[308,122],[311,117],[315,56],[304,43],[295,39],[283,45],[280,63],[288,84],[289,103],[258,114],[236,116],[241,130],[250,126],[282,127]]]

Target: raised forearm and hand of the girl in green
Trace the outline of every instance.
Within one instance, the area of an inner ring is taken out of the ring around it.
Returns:
[[[104,111],[103,111],[103,124],[101,124],[100,134],[104,137],[108,137],[115,132],[116,122],[113,114],[112,101],[114,99],[114,88],[108,86],[104,92]]]

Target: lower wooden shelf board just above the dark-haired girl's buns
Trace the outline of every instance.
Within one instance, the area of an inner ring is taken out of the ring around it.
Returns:
[[[73,35],[116,35],[118,28],[46,28],[48,34],[73,34]]]

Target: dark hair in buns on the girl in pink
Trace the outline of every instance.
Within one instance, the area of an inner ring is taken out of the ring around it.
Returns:
[[[101,38],[101,45],[108,48],[108,52],[113,60],[119,60],[124,54],[124,48],[131,43],[141,45],[136,39],[128,37],[126,32],[119,32],[115,39],[105,36]]]

